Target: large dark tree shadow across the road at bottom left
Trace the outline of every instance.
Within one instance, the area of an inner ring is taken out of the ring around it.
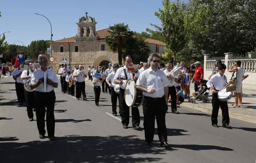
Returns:
[[[168,152],[159,148],[158,143],[150,148],[144,145],[145,140],[135,135],[122,137],[71,135],[58,137],[56,142],[48,141],[48,139],[26,143],[3,142],[0,143],[0,157],[2,162],[20,162],[21,160],[32,162],[33,160],[36,163],[133,163],[161,162],[161,158],[157,158],[155,154],[167,154]],[[133,157],[133,154],[139,156]],[[148,157],[148,154],[151,157]]]

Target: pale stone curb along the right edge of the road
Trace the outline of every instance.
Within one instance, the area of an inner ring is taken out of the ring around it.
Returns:
[[[200,110],[206,113],[212,113],[212,108],[209,108],[206,106],[199,106],[199,105],[194,105],[192,103],[184,103],[184,102],[181,103],[180,106],[185,106],[188,108]],[[219,110],[219,115],[222,116],[221,109]],[[229,112],[229,117],[256,124],[256,117],[249,117],[249,116],[245,116],[245,115],[233,113],[233,112]]]

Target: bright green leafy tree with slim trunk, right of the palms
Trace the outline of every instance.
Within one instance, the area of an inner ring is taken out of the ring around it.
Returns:
[[[184,26],[184,13],[175,3],[171,4],[170,0],[163,0],[162,4],[164,9],[155,12],[155,16],[161,20],[162,25],[150,23],[156,31],[149,28],[146,30],[152,35],[164,37],[166,49],[173,52],[173,62],[176,63],[177,53],[183,50],[189,41],[188,31]]]

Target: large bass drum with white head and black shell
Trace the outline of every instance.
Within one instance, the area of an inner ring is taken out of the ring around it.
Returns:
[[[124,99],[127,106],[140,106],[142,101],[142,92],[136,89],[135,81],[129,79],[124,88]]]

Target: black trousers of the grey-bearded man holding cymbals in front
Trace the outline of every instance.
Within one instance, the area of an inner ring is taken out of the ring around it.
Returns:
[[[37,92],[36,97],[36,124],[39,131],[39,135],[45,135],[44,116],[46,111],[46,126],[48,136],[54,136],[55,118],[54,118],[54,104],[55,104],[55,92]],[[46,110],[45,110],[46,107]]]

